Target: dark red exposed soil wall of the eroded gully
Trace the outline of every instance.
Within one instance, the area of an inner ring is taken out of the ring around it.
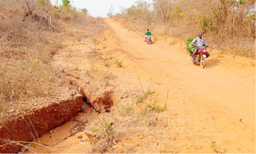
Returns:
[[[83,103],[83,96],[76,94],[69,99],[60,100],[30,114],[11,116],[1,124],[0,145],[12,141],[31,142],[49,130],[69,121],[77,114]],[[0,148],[0,153],[16,153],[22,146],[8,144]]]

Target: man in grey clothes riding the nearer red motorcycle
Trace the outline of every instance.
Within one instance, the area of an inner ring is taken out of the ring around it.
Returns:
[[[199,35],[199,37],[198,37],[198,38],[195,38],[195,39],[191,42],[191,44],[192,44],[193,46],[197,47],[197,48],[194,50],[192,56],[190,57],[191,60],[193,60],[194,56],[199,52],[201,46],[206,46],[206,47],[208,47],[208,46],[205,44],[204,38],[202,37],[202,36],[203,36],[203,33],[200,31],[200,32],[198,33],[198,35]],[[197,43],[197,44],[195,44],[195,43]],[[209,56],[210,56],[210,54],[209,54],[208,52],[206,52],[206,58],[209,57]]]

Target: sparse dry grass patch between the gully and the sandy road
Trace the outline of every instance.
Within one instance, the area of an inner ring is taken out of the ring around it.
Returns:
[[[157,130],[166,127],[168,120],[164,112],[166,108],[153,101],[157,96],[152,96],[148,102],[138,104],[133,102],[120,102],[113,106],[110,112],[98,114],[98,120],[88,126],[88,131],[94,132],[93,153],[118,152],[115,148],[120,146],[121,139],[144,133],[152,135]],[[146,131],[145,131],[146,130]],[[145,144],[142,147],[147,147]],[[126,149],[123,152],[132,152]],[[152,151],[151,151],[152,152]],[[157,152],[157,151],[155,151]]]

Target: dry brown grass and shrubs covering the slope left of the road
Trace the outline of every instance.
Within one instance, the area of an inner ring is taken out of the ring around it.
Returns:
[[[105,28],[101,19],[69,4],[49,9],[48,1],[0,1],[0,19],[1,116],[13,109],[14,102],[15,108],[24,108],[22,100],[50,97],[62,84],[61,72],[50,65],[63,46],[62,32],[76,26],[88,37]],[[79,40],[81,32],[70,35]]]

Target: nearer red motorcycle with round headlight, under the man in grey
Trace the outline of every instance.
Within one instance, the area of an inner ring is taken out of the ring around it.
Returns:
[[[197,54],[195,54],[194,58],[192,59],[192,57],[191,57],[190,60],[192,61],[193,64],[196,64],[197,62],[200,62],[201,67],[202,68],[205,67],[206,52],[207,52],[206,48],[207,47],[208,46],[201,46],[199,52]],[[190,53],[190,56],[192,56],[192,54],[193,54],[193,52]]]

